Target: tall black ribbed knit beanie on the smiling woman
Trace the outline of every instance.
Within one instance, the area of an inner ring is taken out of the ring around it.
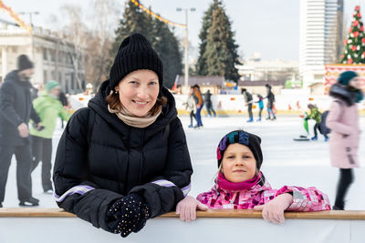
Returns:
[[[120,49],[110,69],[110,88],[114,90],[123,77],[139,69],[155,72],[159,77],[160,88],[162,88],[162,61],[146,37],[135,33],[125,38],[120,44]]]

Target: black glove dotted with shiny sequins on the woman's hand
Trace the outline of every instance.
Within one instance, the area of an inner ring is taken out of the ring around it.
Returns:
[[[138,194],[117,200],[108,210],[110,231],[126,238],[131,232],[140,231],[151,218],[150,208]]]

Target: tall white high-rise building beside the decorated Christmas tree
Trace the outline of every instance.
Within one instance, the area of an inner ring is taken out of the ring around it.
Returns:
[[[341,51],[343,0],[300,0],[299,75],[304,86],[323,82],[324,65]]]

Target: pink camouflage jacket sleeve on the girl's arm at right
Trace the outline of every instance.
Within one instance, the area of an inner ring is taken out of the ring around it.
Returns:
[[[285,186],[278,190],[268,190],[264,193],[264,201],[267,203],[287,192],[293,193],[293,203],[286,211],[323,211],[331,209],[328,196],[316,187]]]

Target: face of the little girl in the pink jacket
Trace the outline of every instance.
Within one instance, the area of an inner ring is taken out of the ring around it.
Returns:
[[[249,147],[232,144],[227,147],[222,160],[222,173],[231,182],[243,182],[255,177],[256,160]]]

